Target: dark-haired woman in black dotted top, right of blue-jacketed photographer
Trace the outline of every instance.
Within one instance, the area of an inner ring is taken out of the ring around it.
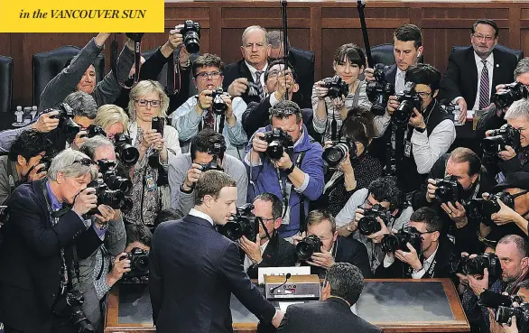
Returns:
[[[328,165],[325,188],[320,199],[313,203],[313,208],[326,208],[336,216],[355,190],[367,188],[371,181],[380,177],[382,164],[367,152],[374,135],[373,116],[368,112],[362,113],[357,108],[351,109],[339,134],[339,144],[343,145],[337,147],[331,141],[325,142],[323,159]],[[341,148],[346,146],[347,153],[333,167],[332,153],[343,152]]]

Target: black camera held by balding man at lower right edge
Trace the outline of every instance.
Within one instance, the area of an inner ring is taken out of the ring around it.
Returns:
[[[453,256],[450,260],[450,270],[453,273],[483,275],[486,268],[489,279],[501,276],[501,263],[496,254],[478,254],[474,258]]]

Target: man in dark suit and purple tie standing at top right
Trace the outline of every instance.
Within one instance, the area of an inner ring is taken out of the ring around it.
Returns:
[[[515,80],[518,61],[514,54],[495,49],[498,32],[494,21],[478,20],[471,28],[472,45],[450,54],[441,80],[441,98],[459,105],[461,122],[467,118],[467,109],[481,110],[490,104],[497,85]]]

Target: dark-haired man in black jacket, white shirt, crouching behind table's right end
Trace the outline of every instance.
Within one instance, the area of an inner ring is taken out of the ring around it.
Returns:
[[[419,208],[410,217],[406,232],[417,231],[421,234],[421,244],[414,248],[406,243],[406,250],[397,249],[386,253],[384,263],[376,269],[375,276],[380,279],[423,279],[450,277],[450,259],[454,244],[446,235],[442,235],[442,221],[432,208]],[[416,230],[410,230],[411,228]],[[398,260],[395,260],[398,259]]]

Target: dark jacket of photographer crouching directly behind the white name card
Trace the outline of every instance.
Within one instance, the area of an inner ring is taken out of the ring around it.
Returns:
[[[296,246],[285,241],[277,233],[272,236],[262,255],[263,261],[260,264],[248,267],[246,273],[250,279],[257,278],[259,267],[292,267],[296,264]]]

